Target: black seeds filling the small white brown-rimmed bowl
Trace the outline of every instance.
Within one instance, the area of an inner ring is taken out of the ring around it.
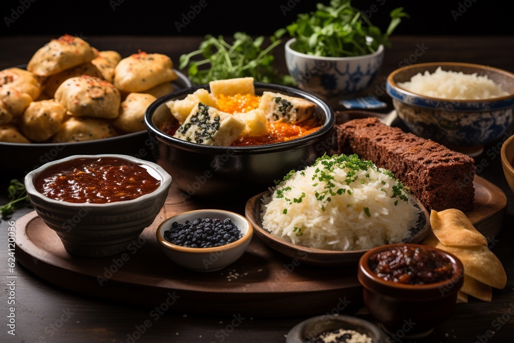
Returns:
[[[171,228],[164,231],[164,239],[168,242],[191,248],[226,245],[242,237],[241,230],[229,218],[196,218],[184,224],[173,222]]]

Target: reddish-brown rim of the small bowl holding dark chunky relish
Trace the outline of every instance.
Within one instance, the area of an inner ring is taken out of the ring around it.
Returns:
[[[429,284],[423,284],[423,285],[411,285],[411,284],[402,284],[394,281],[387,281],[382,278],[379,278],[375,273],[372,272],[370,266],[369,266],[369,259],[371,255],[376,254],[379,251],[387,250],[392,247],[398,247],[398,246],[411,246],[411,247],[418,247],[421,249],[426,250],[432,250],[437,252],[440,255],[447,256],[454,267],[454,272],[451,278],[439,282],[429,283]],[[457,276],[458,280],[463,280],[464,276],[464,266],[462,264],[462,261],[458,259],[455,255],[451,254],[450,252],[444,251],[442,249],[429,246],[429,245],[423,245],[423,244],[413,244],[413,243],[396,243],[396,244],[388,244],[388,245],[382,245],[375,248],[370,249],[369,251],[366,251],[364,255],[359,260],[359,272],[362,272],[362,275],[366,278],[371,280],[370,282],[373,282],[375,284],[380,285],[380,287],[384,287],[387,289],[396,289],[396,290],[402,290],[402,291],[408,291],[408,292],[417,292],[417,291],[427,291],[427,290],[433,290],[437,289],[439,287],[444,287],[445,285],[448,285],[448,283],[457,283],[453,282],[452,279]],[[360,274],[360,273],[359,273]],[[360,277],[359,277],[359,281]],[[365,288],[368,288],[371,291],[377,292],[376,289],[370,287],[369,285],[364,284],[361,282],[362,286]],[[456,292],[458,288],[455,288],[454,291]],[[380,293],[378,291],[378,293]],[[448,294],[451,294],[452,292],[448,292]]]

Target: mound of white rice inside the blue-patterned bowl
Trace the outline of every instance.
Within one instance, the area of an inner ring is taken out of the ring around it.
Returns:
[[[398,82],[406,91],[434,98],[478,100],[508,95],[502,87],[487,76],[464,74],[462,71],[443,70],[438,67],[433,74],[418,73],[408,82]]]

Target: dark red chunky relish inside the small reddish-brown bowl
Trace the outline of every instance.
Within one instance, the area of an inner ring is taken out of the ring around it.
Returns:
[[[370,266],[379,278],[412,285],[445,281],[453,275],[453,266],[447,256],[405,245],[372,255]]]

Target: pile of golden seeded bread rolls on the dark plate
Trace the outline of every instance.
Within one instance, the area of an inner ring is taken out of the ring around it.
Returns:
[[[122,59],[63,35],[34,53],[27,70],[0,71],[0,141],[78,142],[145,130],[144,111],[173,92],[168,56]]]

